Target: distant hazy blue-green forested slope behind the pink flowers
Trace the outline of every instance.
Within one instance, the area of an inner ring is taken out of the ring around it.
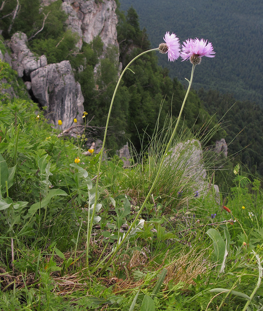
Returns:
[[[152,47],[158,46],[166,31],[174,32],[181,41],[197,37],[212,42],[215,58],[202,60],[205,66],[199,66],[195,72],[193,88],[229,92],[238,100],[263,105],[262,1],[120,0],[120,3],[122,10],[134,7]],[[185,83],[190,70],[187,62],[167,64],[160,56],[159,63],[168,67],[171,77]]]

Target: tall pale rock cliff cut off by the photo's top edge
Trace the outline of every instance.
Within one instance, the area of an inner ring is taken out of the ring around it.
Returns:
[[[79,49],[83,41],[89,43],[99,35],[104,50],[110,45],[116,46],[119,50],[116,30],[118,19],[114,0],[101,3],[98,1],[96,3],[95,0],[64,0],[61,7],[68,14],[68,27],[79,35],[77,44]]]

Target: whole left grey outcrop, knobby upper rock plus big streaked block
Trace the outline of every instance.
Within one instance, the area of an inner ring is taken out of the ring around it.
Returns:
[[[58,126],[70,127],[74,118],[83,122],[84,98],[79,82],[75,81],[69,61],[47,64],[45,55],[35,56],[27,47],[27,36],[15,33],[10,41],[11,64],[26,89],[41,106],[47,107],[48,118]]]

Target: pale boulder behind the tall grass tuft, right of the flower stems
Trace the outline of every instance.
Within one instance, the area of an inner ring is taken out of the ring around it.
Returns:
[[[198,140],[193,139],[187,142],[180,142],[170,150],[166,158],[166,165],[174,166],[176,170],[182,170],[183,177],[191,181],[190,187],[198,195],[204,195],[214,187],[215,201],[220,204],[220,194],[217,185],[207,181],[206,169],[203,164],[203,152]]]

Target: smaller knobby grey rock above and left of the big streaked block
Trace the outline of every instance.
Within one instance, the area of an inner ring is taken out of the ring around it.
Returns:
[[[10,48],[13,52],[12,68],[16,70],[18,77],[29,77],[29,74],[48,64],[45,55],[35,56],[27,47],[27,36],[23,32],[16,32],[11,37]]]

